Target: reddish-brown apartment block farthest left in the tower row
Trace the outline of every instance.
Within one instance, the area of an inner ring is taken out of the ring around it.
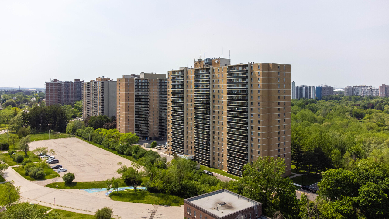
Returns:
[[[82,83],[80,79],[74,81],[58,81],[53,79],[45,82],[46,87],[46,105],[54,104],[73,104],[75,101],[81,101]]]

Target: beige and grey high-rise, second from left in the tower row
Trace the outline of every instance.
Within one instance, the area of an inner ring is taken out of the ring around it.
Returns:
[[[116,116],[116,81],[98,77],[83,83],[82,116]]]

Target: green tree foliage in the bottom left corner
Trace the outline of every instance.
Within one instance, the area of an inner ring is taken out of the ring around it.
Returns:
[[[60,213],[40,208],[39,205],[31,205],[28,202],[13,205],[0,213],[0,219],[60,219]]]

